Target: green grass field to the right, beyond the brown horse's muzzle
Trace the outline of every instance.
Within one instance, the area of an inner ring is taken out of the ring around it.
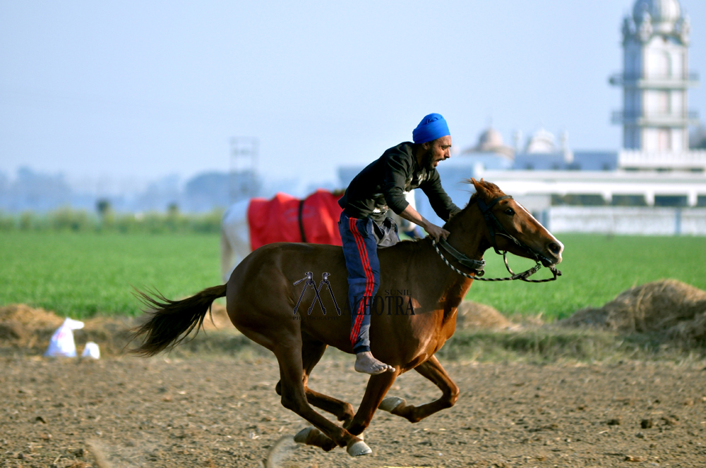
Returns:
[[[583,307],[599,307],[635,285],[676,278],[706,289],[706,238],[559,235],[564,243],[563,276],[551,283],[475,281],[466,299],[490,304],[505,314],[542,314],[561,319]],[[508,276],[502,257],[485,256],[486,278]],[[508,256],[515,272],[534,262]],[[533,278],[550,278],[542,269]]]

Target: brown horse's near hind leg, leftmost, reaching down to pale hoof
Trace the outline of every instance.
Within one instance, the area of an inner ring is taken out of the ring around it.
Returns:
[[[324,450],[331,450],[336,445],[346,447],[349,455],[370,453],[370,448],[363,441],[352,436],[342,427],[333,424],[309,406],[309,402],[306,401],[304,382],[301,378],[304,368],[301,359],[301,341],[299,340],[299,343],[278,343],[273,351],[280,364],[282,406],[299,414],[318,429],[318,431],[307,431],[304,434],[304,442],[317,445]]]

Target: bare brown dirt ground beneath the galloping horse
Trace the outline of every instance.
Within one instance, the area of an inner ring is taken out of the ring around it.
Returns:
[[[311,387],[356,405],[366,378],[325,357]],[[373,450],[291,437],[272,358],[0,357],[0,467],[704,467],[703,364],[443,363],[462,393],[419,422],[378,412]],[[389,395],[438,390],[415,372]],[[270,457],[269,462],[268,454]]]

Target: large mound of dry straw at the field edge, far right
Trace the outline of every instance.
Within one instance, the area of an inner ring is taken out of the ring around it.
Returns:
[[[581,309],[558,324],[664,333],[706,343],[706,291],[671,279],[646,283],[623,291],[603,307]]]

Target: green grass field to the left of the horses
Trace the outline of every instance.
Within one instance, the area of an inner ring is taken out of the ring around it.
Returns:
[[[0,304],[61,316],[139,314],[131,294],[155,287],[184,297],[220,283],[215,234],[0,234]]]

